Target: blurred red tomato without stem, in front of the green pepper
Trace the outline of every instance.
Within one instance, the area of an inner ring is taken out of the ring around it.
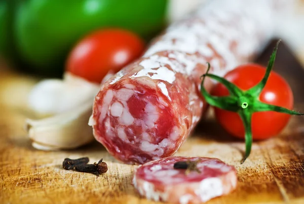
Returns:
[[[72,49],[66,71],[100,83],[109,71],[118,72],[143,50],[144,42],[135,33],[119,28],[97,30]]]

